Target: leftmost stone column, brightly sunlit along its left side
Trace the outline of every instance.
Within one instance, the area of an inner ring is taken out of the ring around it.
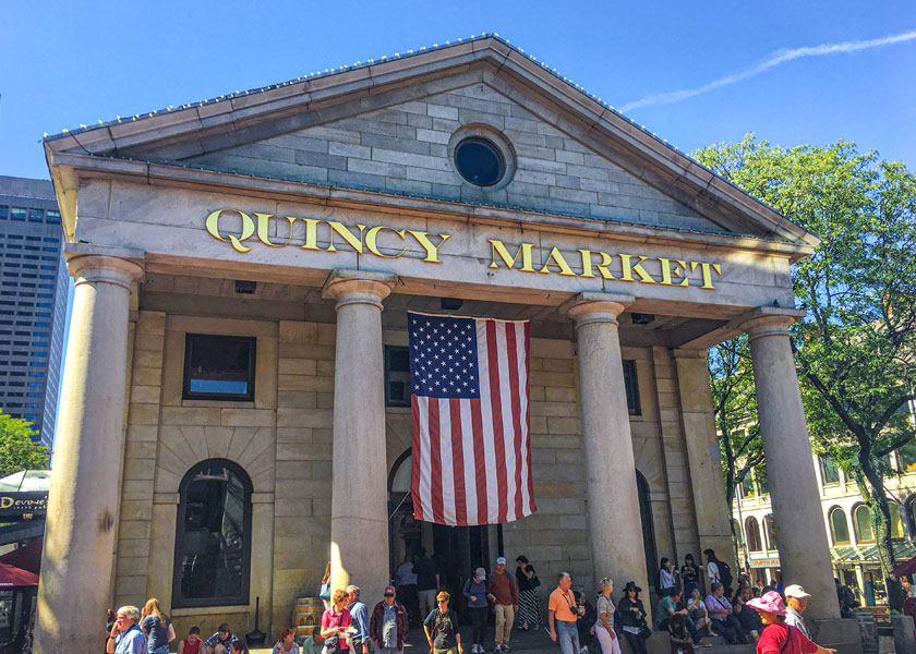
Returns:
[[[134,263],[142,252],[74,250],[68,266],[76,288],[38,585],[35,651],[41,654],[101,642],[98,616],[111,600],[121,501],[131,282],[143,272]]]

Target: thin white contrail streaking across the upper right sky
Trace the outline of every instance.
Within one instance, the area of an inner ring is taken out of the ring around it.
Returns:
[[[652,95],[648,95],[639,100],[627,102],[619,109],[620,111],[626,112],[631,109],[637,109],[639,107],[648,107],[650,105],[670,105],[671,102],[679,102],[680,100],[686,100],[687,98],[692,98],[695,96],[709,93],[710,90],[714,90],[722,86],[727,86],[730,84],[735,84],[736,82],[742,82],[743,80],[756,77],[757,75],[764,73],[766,71],[772,68],[782,65],[787,61],[801,59],[803,57],[823,57],[824,55],[836,55],[839,52],[857,52],[858,50],[869,50],[871,48],[880,48],[881,46],[902,44],[914,39],[916,39],[916,29],[912,32],[905,32],[903,34],[885,36],[882,38],[872,38],[869,40],[854,40],[845,41],[842,44],[823,44],[820,46],[806,46],[804,48],[795,48],[792,50],[776,50],[775,52],[772,52],[767,58],[762,59],[761,61],[758,61],[750,68],[747,68],[743,71],[738,71],[736,73],[731,73],[728,75],[725,75],[724,77],[720,77],[719,80],[714,80],[708,84],[703,84],[702,86],[698,86],[696,88],[685,88],[682,90],[672,90],[668,93],[655,93]]]

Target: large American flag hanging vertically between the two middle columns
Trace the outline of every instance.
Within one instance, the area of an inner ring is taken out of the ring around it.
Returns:
[[[530,326],[407,314],[418,520],[470,525],[533,513]]]

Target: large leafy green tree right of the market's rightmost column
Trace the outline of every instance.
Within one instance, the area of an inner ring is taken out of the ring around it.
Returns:
[[[748,135],[695,156],[822,239],[793,266],[808,308],[792,328],[808,428],[868,505],[899,606],[882,459],[916,437],[905,411],[916,398],[916,175],[844,142],[784,148]]]

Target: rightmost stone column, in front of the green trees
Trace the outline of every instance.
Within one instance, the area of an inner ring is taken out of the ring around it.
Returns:
[[[812,596],[806,618],[840,617],[808,425],[788,326],[804,311],[761,307],[742,323],[754,360],[757,412],[767,461],[783,581]]]

